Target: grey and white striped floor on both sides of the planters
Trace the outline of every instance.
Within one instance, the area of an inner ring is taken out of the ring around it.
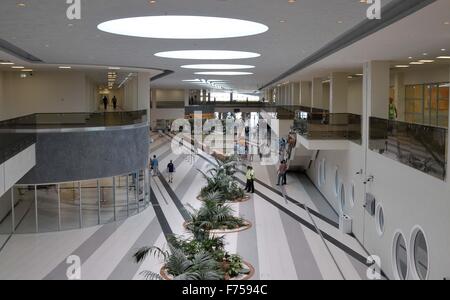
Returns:
[[[166,246],[166,236],[186,235],[183,223],[189,210],[200,207],[196,199],[205,184],[198,170],[207,170],[214,159],[176,155],[168,136],[153,136],[150,153],[163,168],[177,166],[174,182],[165,172],[151,178],[152,207],[118,223],[82,230],[13,235],[0,252],[0,279],[67,279],[67,258],[81,259],[81,279],[142,280],[142,271],[158,272],[161,260],[148,257],[141,264],[133,253],[142,246]],[[228,234],[227,250],[240,254],[256,269],[253,279],[365,279],[368,254],[337,228],[337,215],[301,174],[291,174],[289,185],[275,187],[274,167],[257,166],[256,193],[248,202],[233,204],[236,214],[254,225]],[[236,175],[244,181],[244,175]]]

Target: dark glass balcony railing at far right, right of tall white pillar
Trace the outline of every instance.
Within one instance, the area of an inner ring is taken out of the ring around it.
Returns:
[[[370,118],[369,148],[445,180],[448,129]]]

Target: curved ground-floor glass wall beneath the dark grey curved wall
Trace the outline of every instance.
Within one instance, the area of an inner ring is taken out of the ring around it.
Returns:
[[[0,234],[79,229],[124,220],[150,205],[148,170],[46,185],[16,185]]]

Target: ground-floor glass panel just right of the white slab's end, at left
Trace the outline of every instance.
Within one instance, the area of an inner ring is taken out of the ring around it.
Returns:
[[[58,186],[37,186],[37,209],[39,232],[59,230]]]

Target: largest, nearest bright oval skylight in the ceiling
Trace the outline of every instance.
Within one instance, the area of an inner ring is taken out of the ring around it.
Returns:
[[[111,20],[97,26],[101,31],[144,38],[219,39],[256,35],[269,30],[264,24],[201,16],[146,16]]]

